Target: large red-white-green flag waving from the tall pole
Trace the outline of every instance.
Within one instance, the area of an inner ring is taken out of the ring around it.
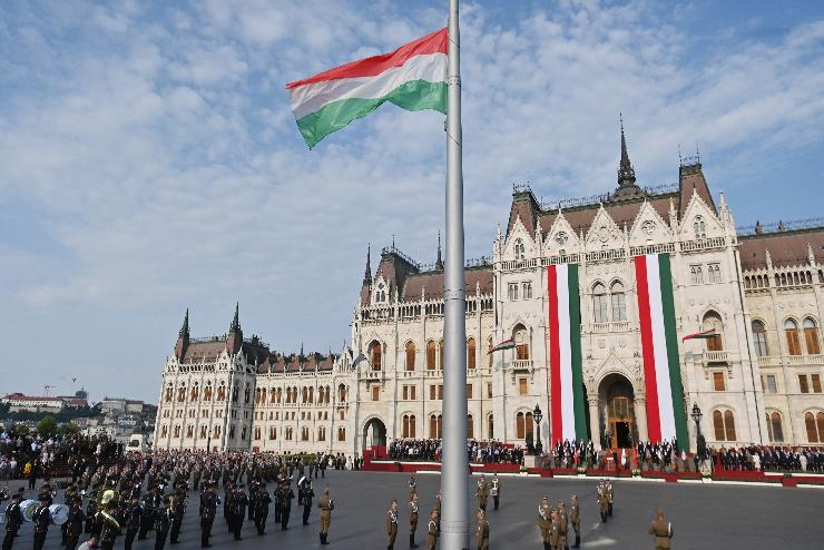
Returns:
[[[313,148],[321,139],[389,101],[406,110],[447,112],[447,29],[392,53],[328,69],[286,85],[297,127]]]

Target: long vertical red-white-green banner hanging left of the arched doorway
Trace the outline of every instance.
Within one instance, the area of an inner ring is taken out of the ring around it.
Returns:
[[[583,374],[581,370],[581,305],[578,265],[550,265],[549,367],[552,445],[586,440]]]

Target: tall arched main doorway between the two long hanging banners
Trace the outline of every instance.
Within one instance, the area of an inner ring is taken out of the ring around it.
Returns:
[[[612,449],[631,448],[638,441],[632,384],[620,374],[610,374],[599,387],[602,405],[601,444]]]

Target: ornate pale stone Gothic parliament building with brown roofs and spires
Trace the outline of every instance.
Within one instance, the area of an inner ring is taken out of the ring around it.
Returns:
[[[648,440],[634,263],[657,254],[671,265],[684,395],[673,406],[687,415],[690,448],[695,404],[709,445],[824,443],[824,225],[736,228],[698,158],[678,176],[638,186],[621,130],[611,193],[543,204],[513,188],[506,230],[465,269],[470,439],[523,444],[537,435],[536,405],[545,444],[551,435],[547,276],[576,264],[588,435],[598,446]],[[352,345],[336,354],[277,353],[244,336],[237,308],[227,334],[194,340],[187,312],[163,371],[156,449],[353,456],[440,439],[443,286],[440,244],[426,267],[394,246],[374,271],[367,255]],[[697,333],[709,336],[681,340]]]

